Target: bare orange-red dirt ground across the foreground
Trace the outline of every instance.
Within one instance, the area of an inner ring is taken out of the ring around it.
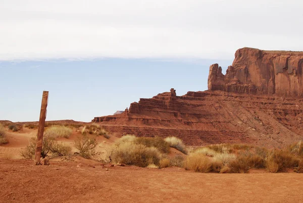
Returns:
[[[108,168],[108,171],[107,171]],[[0,159],[0,202],[301,202],[301,174],[201,174]]]

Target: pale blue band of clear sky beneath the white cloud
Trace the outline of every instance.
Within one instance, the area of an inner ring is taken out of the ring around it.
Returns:
[[[0,85],[9,88],[1,92],[0,120],[37,121],[42,91],[49,91],[46,120],[90,122],[171,88],[177,95],[207,90],[214,63],[225,71],[232,60],[2,61]]]

